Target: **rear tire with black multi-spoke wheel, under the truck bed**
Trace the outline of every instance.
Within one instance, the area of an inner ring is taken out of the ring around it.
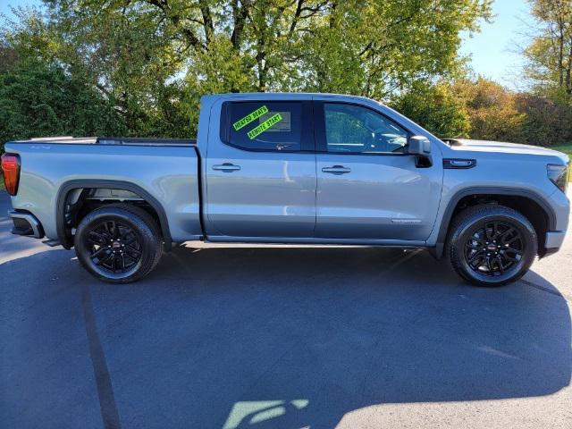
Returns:
[[[74,237],[80,264],[97,279],[137,282],[150,273],[163,251],[161,232],[153,217],[127,204],[103,206],[88,213]]]

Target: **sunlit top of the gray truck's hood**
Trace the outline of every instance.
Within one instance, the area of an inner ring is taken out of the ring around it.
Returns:
[[[456,151],[496,152],[515,155],[558,156],[564,164],[568,164],[568,156],[558,150],[547,147],[520,145],[503,141],[469,140],[469,139],[443,139]]]

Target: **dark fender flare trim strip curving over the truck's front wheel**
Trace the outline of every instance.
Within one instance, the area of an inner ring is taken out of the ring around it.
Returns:
[[[506,195],[509,197],[524,197],[533,200],[538,206],[540,206],[544,214],[548,219],[548,229],[556,229],[556,214],[552,210],[552,207],[545,198],[538,195],[536,192],[528,189],[518,189],[518,188],[501,188],[495,186],[487,187],[475,187],[475,188],[465,188],[458,190],[450,199],[445,211],[443,212],[441,225],[439,227],[439,233],[437,235],[437,242],[435,244],[435,256],[441,258],[443,256],[443,251],[445,248],[445,241],[447,240],[447,232],[449,232],[449,225],[455,207],[458,202],[469,195]]]

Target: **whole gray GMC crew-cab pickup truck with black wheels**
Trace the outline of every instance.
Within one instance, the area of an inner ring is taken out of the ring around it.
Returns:
[[[75,248],[133,282],[188,240],[427,248],[468,282],[501,285],[559,249],[568,156],[442,140],[363,97],[201,100],[197,139],[12,141],[13,233]]]

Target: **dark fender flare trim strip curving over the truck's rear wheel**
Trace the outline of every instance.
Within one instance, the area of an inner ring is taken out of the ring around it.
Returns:
[[[80,188],[108,188],[108,189],[122,189],[129,190],[140,198],[143,198],[149,206],[152,206],[159,216],[159,227],[163,233],[164,249],[166,251],[172,248],[171,231],[169,231],[169,222],[167,220],[167,215],[165,214],[164,207],[161,203],[147,192],[147,190],[141,188],[139,185],[130,183],[129,181],[112,181],[105,179],[80,179],[65,181],[60,189],[58,189],[57,195],[55,197],[55,229],[57,232],[57,238],[63,248],[71,248],[73,243],[68,240],[65,234],[65,219],[64,219],[64,209],[65,200],[73,189]]]

